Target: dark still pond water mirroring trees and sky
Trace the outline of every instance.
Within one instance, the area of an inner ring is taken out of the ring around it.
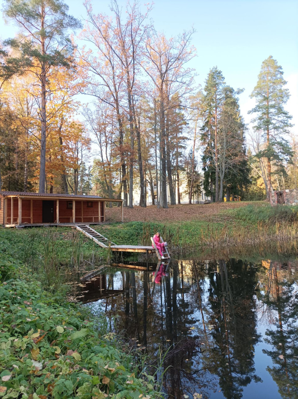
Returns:
[[[168,398],[294,399],[297,282],[295,260],[131,263],[83,279],[80,300],[153,361],[168,349]]]

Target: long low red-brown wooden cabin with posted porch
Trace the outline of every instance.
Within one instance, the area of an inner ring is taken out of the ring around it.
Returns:
[[[123,221],[123,199],[0,191],[0,225],[24,227],[104,223],[107,201],[121,203]]]

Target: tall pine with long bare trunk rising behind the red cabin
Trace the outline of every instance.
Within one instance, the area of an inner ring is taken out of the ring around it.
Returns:
[[[46,104],[49,96],[48,81],[52,66],[71,67],[73,46],[67,35],[69,28],[81,26],[80,22],[67,14],[69,7],[60,0],[6,0],[4,14],[16,22],[21,30],[21,37],[6,40],[17,50],[19,57],[7,59],[8,69],[14,71],[24,65],[27,71],[36,76],[40,87],[39,106],[40,136],[40,171],[39,192],[45,192],[45,158],[47,138]],[[23,37],[22,37],[23,36]]]

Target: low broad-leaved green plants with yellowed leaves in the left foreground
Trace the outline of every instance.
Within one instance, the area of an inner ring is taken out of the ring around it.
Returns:
[[[100,328],[105,321],[89,316],[39,282],[1,284],[0,397],[155,395],[153,379],[136,378],[132,355],[120,352],[114,335]]]

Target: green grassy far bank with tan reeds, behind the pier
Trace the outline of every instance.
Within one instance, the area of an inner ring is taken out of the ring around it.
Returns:
[[[113,223],[94,227],[117,244],[150,245],[160,231],[175,256],[202,253],[213,256],[298,253],[298,207],[249,204],[220,210],[216,221]]]

